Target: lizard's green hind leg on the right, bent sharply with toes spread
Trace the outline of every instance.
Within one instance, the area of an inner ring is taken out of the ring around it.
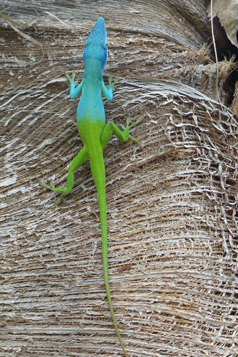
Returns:
[[[105,147],[107,146],[110,137],[112,135],[112,132],[114,132],[114,134],[116,135],[117,139],[125,142],[128,141],[129,139],[132,139],[133,141],[135,141],[137,144],[139,144],[138,140],[135,139],[134,137],[131,137],[131,135],[129,134],[129,130],[135,126],[136,124],[140,123],[140,121],[142,120],[142,117],[138,118],[137,121],[132,124],[130,124],[131,118],[128,117],[126,120],[126,127],[123,126],[123,132],[113,123],[113,121],[110,121],[106,124],[102,135],[101,135],[101,146],[102,149],[105,149]]]

